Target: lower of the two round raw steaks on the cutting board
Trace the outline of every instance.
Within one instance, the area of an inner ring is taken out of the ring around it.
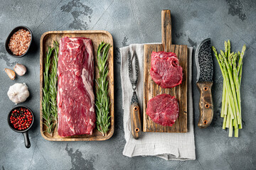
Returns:
[[[160,94],[147,103],[146,114],[154,123],[163,126],[174,125],[178,118],[178,101],[169,94]]]

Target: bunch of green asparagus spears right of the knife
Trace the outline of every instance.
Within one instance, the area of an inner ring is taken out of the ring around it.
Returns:
[[[238,137],[238,129],[242,129],[240,84],[242,78],[242,58],[245,55],[246,46],[242,46],[242,52],[231,52],[230,40],[225,41],[225,52],[220,50],[218,54],[215,47],[213,52],[220,65],[223,74],[223,97],[220,117],[223,120],[223,129],[229,128],[229,137]],[[239,60],[238,60],[239,58]]]

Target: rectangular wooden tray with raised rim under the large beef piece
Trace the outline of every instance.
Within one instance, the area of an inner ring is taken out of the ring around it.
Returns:
[[[48,46],[53,44],[53,40],[59,42],[60,38],[63,37],[85,37],[92,40],[92,45],[94,49],[95,56],[95,78],[99,77],[97,65],[97,47],[100,42],[108,42],[112,47],[110,47],[108,65],[108,81],[109,81],[109,96],[110,96],[110,115],[111,115],[111,126],[107,133],[107,136],[102,136],[102,133],[95,128],[92,135],[74,135],[71,137],[60,137],[58,135],[57,129],[55,128],[53,136],[48,135],[45,125],[43,125],[43,115],[42,115],[42,99],[43,99],[43,69],[44,69],[44,58],[46,57],[46,51]],[[112,137],[114,133],[114,63],[113,63],[113,38],[112,35],[105,30],[63,30],[63,31],[48,31],[43,33],[40,40],[40,131],[43,138],[50,141],[92,141],[92,140],[107,140]]]

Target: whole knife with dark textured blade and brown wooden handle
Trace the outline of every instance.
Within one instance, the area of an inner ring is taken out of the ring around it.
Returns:
[[[213,57],[210,38],[203,40],[196,48],[196,68],[196,85],[200,91],[198,127],[207,128],[213,120]]]

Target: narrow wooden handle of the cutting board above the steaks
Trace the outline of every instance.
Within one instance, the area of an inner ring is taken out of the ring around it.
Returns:
[[[171,50],[171,11],[161,11],[162,44],[165,52]]]

